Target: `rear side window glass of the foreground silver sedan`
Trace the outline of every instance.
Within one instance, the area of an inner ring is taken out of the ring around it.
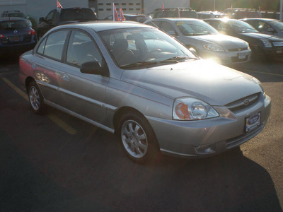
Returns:
[[[48,35],[45,47],[40,47],[38,50],[42,51],[44,49],[43,54],[47,57],[51,57],[53,59],[61,60],[62,59],[62,52],[64,48],[65,41],[67,40],[69,30],[60,30],[55,33]],[[45,40],[42,40],[43,45]],[[38,52],[37,50],[37,52]],[[39,52],[41,53],[41,52]]]

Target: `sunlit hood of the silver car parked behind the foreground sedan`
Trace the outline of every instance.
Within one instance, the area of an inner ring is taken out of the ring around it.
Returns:
[[[247,47],[246,41],[241,40],[237,37],[229,36],[229,35],[221,35],[221,34],[200,35],[200,36],[195,36],[194,38],[197,40],[202,40],[204,42],[212,42],[217,45],[221,45],[222,47],[225,47],[226,49]]]

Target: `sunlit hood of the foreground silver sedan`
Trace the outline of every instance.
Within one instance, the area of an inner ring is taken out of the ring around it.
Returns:
[[[171,99],[190,96],[214,106],[262,91],[252,76],[204,59],[125,70],[121,80]]]

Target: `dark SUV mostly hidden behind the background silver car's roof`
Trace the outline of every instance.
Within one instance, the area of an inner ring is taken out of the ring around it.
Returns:
[[[157,8],[149,13],[152,18],[198,18],[197,12],[191,8]]]

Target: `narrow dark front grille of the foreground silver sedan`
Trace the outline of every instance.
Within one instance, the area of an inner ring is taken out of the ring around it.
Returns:
[[[260,93],[255,93],[253,95],[249,95],[245,98],[241,98],[240,100],[236,100],[234,102],[230,102],[229,104],[225,105],[231,112],[236,112],[238,110],[243,110],[257,102]]]

